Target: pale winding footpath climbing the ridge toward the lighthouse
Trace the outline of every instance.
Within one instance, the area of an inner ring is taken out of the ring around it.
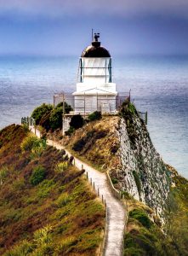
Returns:
[[[40,131],[35,130],[31,126],[31,131],[40,137]],[[53,140],[47,140],[48,145],[54,146],[58,149],[65,149],[66,154],[71,156],[72,154],[60,143],[54,142]],[[74,156],[74,155],[73,155]],[[122,206],[122,202],[115,197],[109,186],[107,176],[104,172],[99,172],[93,167],[88,166],[82,160],[78,160],[74,157],[75,166],[79,170],[82,168],[88,172],[88,180],[92,180],[94,183],[94,188],[96,191],[100,191],[103,200],[105,200],[107,208],[107,227],[106,227],[106,236],[105,236],[105,256],[120,256],[122,255],[122,238],[124,235],[125,229],[125,208]]]

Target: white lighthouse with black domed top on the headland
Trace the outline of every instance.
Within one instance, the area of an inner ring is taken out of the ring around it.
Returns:
[[[116,112],[116,84],[111,82],[111,55],[100,45],[100,34],[94,33],[91,45],[83,50],[79,61],[74,113]]]

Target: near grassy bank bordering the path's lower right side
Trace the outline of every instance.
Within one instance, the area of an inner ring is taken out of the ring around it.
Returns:
[[[162,233],[161,223],[151,208],[138,201],[129,200],[128,209],[128,225],[124,236],[123,255],[178,255],[174,254],[174,247]]]

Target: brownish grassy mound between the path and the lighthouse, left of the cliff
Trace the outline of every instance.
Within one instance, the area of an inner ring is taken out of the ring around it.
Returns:
[[[114,132],[117,116],[93,120],[65,140],[66,147],[95,168],[105,171],[117,166],[119,145]]]

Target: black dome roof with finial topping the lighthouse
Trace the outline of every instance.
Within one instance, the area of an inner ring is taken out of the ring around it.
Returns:
[[[92,42],[92,45],[89,45],[86,49],[83,50],[81,57],[87,58],[110,58],[111,55],[105,47],[100,46],[98,42],[99,34],[94,35],[95,41]]]

